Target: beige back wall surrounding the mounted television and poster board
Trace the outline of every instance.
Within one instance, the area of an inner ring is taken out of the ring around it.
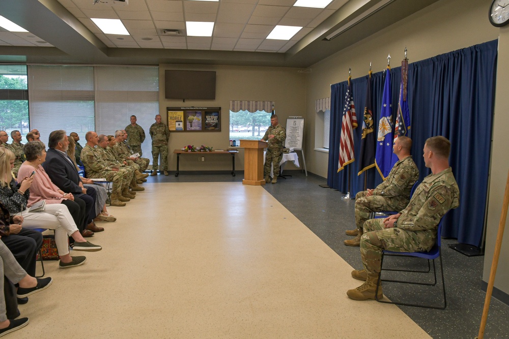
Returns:
[[[164,98],[164,71],[169,69],[200,70],[216,72],[215,100],[168,100]],[[196,106],[221,107],[220,132],[172,132],[169,137],[168,166],[175,170],[177,157],[173,150],[192,144],[212,146],[214,149],[226,149],[229,146],[229,113],[230,100],[264,100],[274,101],[275,111],[281,125],[285,126],[288,116],[305,114],[306,90],[305,77],[297,69],[271,67],[236,67],[236,66],[192,66],[160,65],[159,66],[159,114],[167,123],[166,107]],[[236,156],[235,168],[244,169],[244,153]],[[228,156],[204,155],[205,162],[197,161],[197,156],[181,156],[181,171],[231,170]],[[295,169],[288,166],[287,169]]]

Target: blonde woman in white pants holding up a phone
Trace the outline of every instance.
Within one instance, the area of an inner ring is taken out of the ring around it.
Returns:
[[[40,143],[44,145],[42,142]],[[40,157],[37,159],[43,160],[46,158],[46,151],[44,149],[41,151]],[[17,183],[12,178],[10,172],[14,164],[14,158],[14,153],[9,149],[0,148],[0,201],[3,202],[11,214],[22,217],[20,224],[24,228],[46,228],[55,231],[56,248],[60,256],[59,267],[79,266],[86,260],[84,256],[71,257],[69,255],[69,247],[67,245],[68,235],[74,239],[74,250],[100,251],[102,249],[101,246],[94,245],[81,236],[66,205],[61,203],[46,203],[44,209],[38,212],[30,212],[26,209],[31,195],[29,188],[32,186],[33,180],[37,179],[39,175],[46,174],[46,172],[42,173],[44,171],[42,166],[38,166],[37,169],[32,167],[30,173],[36,172],[32,176],[20,175],[18,172],[19,183]],[[30,166],[29,163],[26,166]],[[25,169],[27,168],[25,167]],[[56,202],[56,200],[52,202]]]

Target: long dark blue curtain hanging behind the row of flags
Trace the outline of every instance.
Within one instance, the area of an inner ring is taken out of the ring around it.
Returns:
[[[447,214],[442,236],[461,243],[482,245],[488,190],[488,170],[493,122],[497,61],[497,40],[417,61],[408,67],[408,103],[413,140],[412,155],[419,179],[430,174],[422,159],[426,139],[443,135],[451,142],[450,166],[460,188],[460,207]],[[401,83],[401,67],[391,69],[392,107],[395,108]],[[373,74],[373,109],[378,127],[383,91],[383,72]],[[353,79],[357,119],[362,121],[367,76]],[[358,162],[337,173],[342,107],[347,81],[331,85],[330,143],[327,184],[355,195],[376,187],[382,180],[376,169],[360,176]],[[393,121],[395,121],[393,119]],[[360,152],[361,124],[354,130],[355,156]]]

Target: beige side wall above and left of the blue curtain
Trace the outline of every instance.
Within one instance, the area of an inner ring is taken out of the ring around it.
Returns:
[[[426,59],[478,43],[494,40],[498,28],[488,21],[491,0],[442,0],[409,16],[312,66],[308,74],[305,140],[307,170],[327,177],[328,154],[315,147],[315,101],[330,97],[330,84],[365,76],[372,62],[373,72],[401,66],[405,47],[409,62]],[[336,39],[341,39],[338,37]],[[355,98],[361,112],[364,98]],[[310,134],[309,134],[310,133]]]

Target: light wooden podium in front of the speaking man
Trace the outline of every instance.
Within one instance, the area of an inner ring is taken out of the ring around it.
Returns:
[[[262,186],[263,178],[263,149],[268,142],[260,140],[240,140],[240,147],[244,148],[244,179],[245,185]]]

